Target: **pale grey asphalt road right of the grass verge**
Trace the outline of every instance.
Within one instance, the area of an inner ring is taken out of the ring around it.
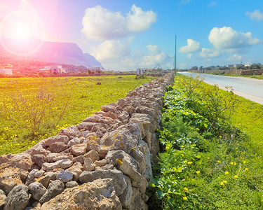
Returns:
[[[180,73],[193,77],[199,75],[204,79],[205,83],[210,85],[217,84],[221,89],[224,90],[226,86],[231,86],[234,89],[235,94],[249,99],[252,102],[263,104],[263,80],[237,76],[218,76],[206,73]]]

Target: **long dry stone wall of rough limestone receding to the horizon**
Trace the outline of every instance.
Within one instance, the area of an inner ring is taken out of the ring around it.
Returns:
[[[24,153],[0,157],[0,209],[147,209],[169,73]]]

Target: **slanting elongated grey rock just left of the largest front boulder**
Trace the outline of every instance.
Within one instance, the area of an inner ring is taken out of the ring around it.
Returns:
[[[46,193],[41,197],[39,202],[43,204],[44,202],[48,202],[50,199],[55,197],[56,195],[59,195],[64,190],[64,183],[60,180],[55,180],[50,182],[48,189],[46,190]]]

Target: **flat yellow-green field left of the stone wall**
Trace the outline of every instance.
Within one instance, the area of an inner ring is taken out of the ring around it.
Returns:
[[[135,76],[0,79],[0,155],[19,153],[154,80]],[[97,85],[101,83],[101,85]]]

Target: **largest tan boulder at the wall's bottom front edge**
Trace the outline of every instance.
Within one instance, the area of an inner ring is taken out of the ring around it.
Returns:
[[[62,194],[44,203],[41,210],[121,210],[121,202],[119,202],[113,186],[112,179],[97,179],[91,183],[67,188]]]

